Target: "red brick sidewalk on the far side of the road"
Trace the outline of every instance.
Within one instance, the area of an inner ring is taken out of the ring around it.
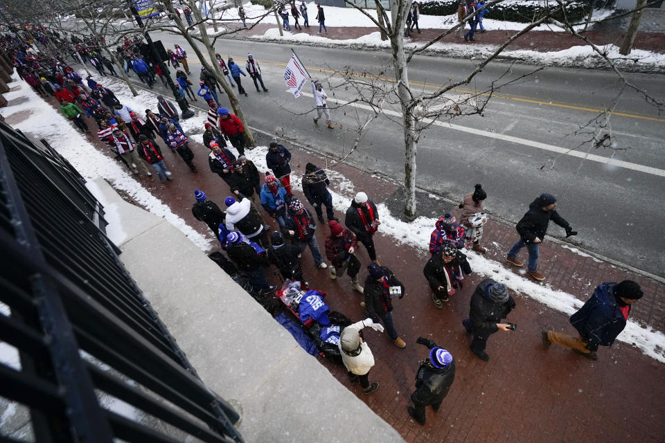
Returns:
[[[276,24],[257,24],[254,28],[248,30],[241,30],[237,36],[239,38],[247,38],[253,35],[264,35],[269,29],[276,29]],[[377,32],[377,28],[370,27],[344,27],[335,28],[328,26],[328,33],[321,33],[321,37],[334,40],[356,39],[363,35],[369,35]],[[441,29],[423,29],[423,32],[411,34],[412,42],[428,42],[434,37],[443,32]],[[479,44],[503,44],[508,37],[515,35],[517,31],[511,30],[488,30],[486,33],[476,33],[474,38],[476,42],[464,42],[464,40],[451,33],[441,39],[441,43],[459,43],[468,44],[469,46]],[[310,26],[310,28],[303,28],[302,31],[296,33],[305,33],[309,35],[319,35],[319,26]],[[619,46],[623,39],[623,32],[621,30],[610,31],[588,31],[583,33],[589,38],[591,42],[598,45],[614,44]],[[234,38],[234,35],[229,35]],[[663,39],[665,33],[637,33],[635,37],[635,44],[633,48],[644,49],[645,51],[655,51],[657,53],[665,53],[665,45]],[[570,48],[571,46],[583,46],[585,42],[578,37],[567,35],[566,33],[556,33],[550,30],[532,30],[525,35],[515,39],[508,45],[508,50],[515,49],[529,49],[531,51],[548,52],[548,51],[561,51],[562,49]]]

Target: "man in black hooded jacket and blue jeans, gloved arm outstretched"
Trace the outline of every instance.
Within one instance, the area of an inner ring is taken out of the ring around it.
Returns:
[[[529,264],[527,266],[528,274],[535,280],[544,280],[544,275],[537,271],[538,257],[540,256],[540,244],[542,243],[545,234],[547,234],[547,226],[549,221],[553,221],[566,231],[566,237],[577,235],[577,231],[570,227],[570,224],[559,215],[556,211],[556,197],[551,194],[543,193],[536,197],[535,200],[529,204],[529,210],[524,214],[524,217],[517,222],[515,229],[520,234],[520,239],[513,245],[506,261],[515,266],[522,266],[524,263],[517,260],[517,253],[520,249],[526,246],[529,251]]]

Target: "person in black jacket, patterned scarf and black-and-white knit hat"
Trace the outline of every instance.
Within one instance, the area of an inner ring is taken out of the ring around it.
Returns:
[[[437,309],[443,308],[443,302],[450,300],[455,289],[462,289],[464,275],[471,273],[471,266],[466,255],[461,253],[452,242],[445,242],[441,251],[432,254],[425,264],[423,274],[432,288],[432,302]]]

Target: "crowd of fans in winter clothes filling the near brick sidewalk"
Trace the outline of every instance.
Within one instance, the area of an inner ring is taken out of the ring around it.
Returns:
[[[414,2],[416,7],[417,3]],[[308,26],[306,23],[305,16],[305,26]],[[56,37],[55,34],[53,37]],[[74,41],[73,36],[69,39]],[[39,42],[44,44],[43,39]],[[93,118],[98,125],[98,139],[130,172],[143,172],[150,177],[152,172],[147,167],[150,165],[162,183],[172,181],[174,177],[163,156],[164,150],[169,148],[181,157],[193,173],[198,172],[193,163],[194,154],[189,147],[189,137],[179,124],[177,107],[170,100],[157,95],[153,107],[156,112],[150,108],[141,112],[123,105],[113,91],[103,87],[91,76],[84,81],[61,57],[45,57],[35,42],[6,35],[1,44],[12,50],[10,52],[14,54],[15,67],[21,78],[39,96],[57,98],[62,113],[83,133],[91,131],[82,114]],[[127,42],[123,51],[131,51],[137,44]],[[82,57],[82,53],[85,53],[92,66],[96,64],[92,60],[100,60],[103,64],[103,58],[96,51],[83,51],[88,48],[81,47],[77,51]],[[187,85],[190,84],[186,53],[175,45],[172,55],[178,67],[182,64],[185,69],[177,75],[179,83],[183,85],[180,82],[182,78],[187,80]],[[131,55],[130,58],[135,60],[136,56]],[[232,59],[229,59],[227,65],[218,55],[218,61],[220,66],[227,67],[225,72],[234,80],[240,75],[238,72],[243,73]],[[151,80],[150,75],[143,71],[143,66],[139,66],[136,71],[136,65],[132,63],[130,68],[130,63],[127,63],[125,69],[134,69],[137,75],[140,71],[141,80],[152,87],[154,78]],[[254,61],[251,54],[248,54],[247,71],[254,74],[252,78],[257,91],[259,84],[267,91],[260,77],[258,62]],[[105,75],[102,70],[100,75]],[[37,78],[39,82],[35,84]],[[366,192],[357,192],[349,201],[342,222],[335,216],[332,206],[328,174],[313,163],[305,165],[305,173],[301,178],[304,198],[294,195],[290,166],[292,153],[276,138],[273,138],[265,152],[269,171],[259,171],[245,156],[242,122],[228,109],[220,106],[218,96],[214,93],[214,76],[202,69],[199,84],[201,88],[197,95],[202,96],[208,104],[203,123],[204,146],[209,150],[208,167],[211,173],[217,174],[226,183],[229,192],[223,203],[225,210],[222,210],[220,205],[207,198],[204,190],[195,190],[193,216],[209,227],[228,259],[222,253],[217,253],[218,256],[242,273],[242,278],[247,281],[249,288],[257,292],[258,297],[269,296],[277,289],[275,284],[270,284],[266,273],[271,265],[275,266],[282,280],[298,281],[307,288],[308,275],[302,266],[302,260],[307,260],[303,258],[307,248],[315,269],[327,269],[331,280],[342,279],[346,273],[351,290],[362,294],[360,305],[368,318],[344,327],[337,345],[351,384],[360,383],[366,394],[375,392],[379,383],[369,381],[369,372],[375,361],[369,343],[362,336],[362,329],[370,327],[377,332],[386,332],[396,347],[403,349],[407,346],[393,318],[395,300],[403,298],[407,289],[398,275],[378,260],[379,254],[374,242],[381,225],[378,207]],[[239,79],[236,85],[242,93]],[[317,82],[312,82],[312,89],[315,98],[318,92],[321,100],[317,101],[319,114],[314,118],[314,123],[326,115],[330,126],[325,92]],[[190,98],[196,100],[193,94]],[[423,275],[432,289],[432,302],[436,309],[443,309],[450,297],[462,291],[465,278],[473,272],[467,260],[468,251],[486,253],[486,249],[481,246],[487,221],[483,210],[486,198],[486,191],[481,184],[477,184],[459,204],[459,221],[451,211],[434,224],[429,241],[430,257],[423,266]],[[325,218],[323,206],[326,207]],[[567,236],[577,234],[558,214],[556,207],[555,196],[543,193],[536,197],[529,211],[517,223],[516,230],[520,238],[506,255],[506,261],[512,266],[524,266],[517,260],[517,254],[526,247],[529,253],[527,273],[537,281],[545,278],[538,272],[538,259],[539,247],[547,234],[549,221],[564,228]],[[266,217],[276,221],[276,230],[272,230],[266,223]],[[323,226],[327,226],[327,234]],[[324,245],[323,253],[319,244]],[[357,255],[360,245],[369,256],[368,263],[363,264],[362,258]],[[363,284],[360,283],[361,273],[365,274]],[[488,278],[479,282],[470,296],[469,316],[461,324],[472,337],[471,352],[483,361],[489,360],[486,346],[492,334],[515,330],[515,323],[506,320],[516,307],[509,292],[505,284]],[[564,345],[589,359],[597,359],[598,346],[612,345],[626,326],[632,303],[641,296],[639,284],[630,280],[603,283],[596,287],[585,305],[571,316],[571,324],[577,329],[578,337],[544,330],[542,342],[545,345]],[[399,320],[398,316],[396,319]],[[414,406],[409,406],[407,412],[416,422],[425,424],[425,407],[432,406],[434,411],[438,410],[452,386],[455,362],[452,354],[434,341],[420,337],[416,343],[426,346],[429,352],[418,367],[416,390],[411,395]]]

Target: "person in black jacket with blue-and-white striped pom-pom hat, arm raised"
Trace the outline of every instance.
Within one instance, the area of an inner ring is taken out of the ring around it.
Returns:
[[[429,354],[420,361],[416,372],[416,390],[411,394],[414,406],[407,407],[407,410],[416,422],[425,424],[425,408],[432,406],[432,410],[438,412],[455,381],[455,360],[450,352],[432,340],[418,337],[416,343],[427,346]]]

